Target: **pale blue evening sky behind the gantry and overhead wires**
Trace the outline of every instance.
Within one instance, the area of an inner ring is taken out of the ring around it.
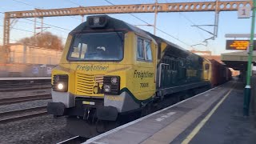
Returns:
[[[128,4],[142,4],[154,3],[155,0],[108,0],[114,5],[128,5]],[[158,0],[159,3],[166,2],[212,2],[214,0]],[[225,1],[225,0],[223,0]],[[3,38],[3,18],[4,12],[7,11],[22,11],[38,9],[54,9],[54,8],[68,8],[78,6],[109,6],[110,3],[106,0],[0,0],[0,45],[2,45]],[[130,14],[108,14],[110,17],[121,19],[131,25],[145,25],[144,22],[154,24],[154,14],[134,14],[138,18],[134,18]],[[86,19],[86,16],[85,18]],[[40,18],[37,18],[41,22]],[[62,38],[65,42],[68,33],[82,22],[81,16],[65,16],[65,17],[46,17],[43,18],[45,31],[50,31]],[[50,26],[49,26],[50,25]],[[233,52],[226,49],[226,40],[232,38],[225,38],[225,34],[250,34],[251,19],[238,18],[238,12],[220,12],[218,23],[218,38],[207,41],[207,46],[200,44],[206,38],[212,35],[203,30],[199,30],[193,25],[214,25],[214,12],[176,12],[176,13],[158,13],[157,28],[165,31],[167,34],[157,30],[156,35],[161,38],[177,44],[186,50],[210,50],[212,54],[222,54]],[[39,27],[41,26],[38,23]],[[34,34],[34,18],[19,18],[18,21],[12,25],[13,29],[10,31],[10,42],[17,42],[21,38],[33,36]],[[60,27],[60,28],[57,28]],[[150,31],[153,34],[154,29],[151,26],[139,26],[139,28]],[[205,30],[213,32],[213,26],[202,27]],[[17,30],[20,29],[20,30]],[[26,31],[22,31],[26,30]],[[40,32],[40,30],[37,30]],[[171,36],[170,36],[171,35]],[[178,39],[178,40],[177,40]],[[248,38],[244,38],[248,39]],[[199,44],[199,45],[198,45]],[[193,46],[197,45],[197,46]]]

